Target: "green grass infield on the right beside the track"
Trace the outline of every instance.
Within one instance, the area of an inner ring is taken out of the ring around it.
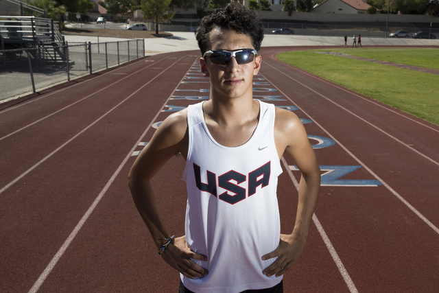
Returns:
[[[439,69],[438,49],[348,48],[318,51],[337,51],[364,58]],[[276,57],[357,93],[439,125],[439,75],[342,56],[317,54],[315,51],[287,52]]]

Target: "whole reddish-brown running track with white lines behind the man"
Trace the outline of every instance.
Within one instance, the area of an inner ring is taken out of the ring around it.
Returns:
[[[439,127],[274,59],[296,49],[312,48],[263,48],[254,79],[254,95],[303,119],[323,174],[285,292],[439,292]],[[177,291],[127,176],[158,122],[209,95],[198,58],[143,58],[1,105],[0,292]],[[184,233],[184,164],[174,157],[153,182],[175,235]],[[299,173],[282,165],[290,233]]]

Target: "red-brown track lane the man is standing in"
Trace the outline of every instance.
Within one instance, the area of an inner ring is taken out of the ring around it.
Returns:
[[[198,71],[196,65],[194,65],[193,68],[195,72]],[[197,83],[195,87],[198,89],[203,88],[204,86],[206,86],[206,84],[202,80],[200,83]],[[193,89],[193,87],[191,89],[190,88],[191,86],[188,84],[181,84],[179,90],[185,91]],[[176,106],[187,106],[188,104],[193,104],[194,102],[197,101],[188,102],[174,100],[172,104]],[[158,116],[158,119],[156,119],[156,122],[163,121],[167,115],[169,115],[169,113],[161,113],[161,115]],[[153,133],[153,129],[147,133],[148,139]],[[145,139],[145,141],[148,139]],[[134,158],[132,158],[132,161],[128,162],[126,167],[124,167],[127,174],[131,165],[130,163],[132,162],[134,162]],[[184,207],[186,202],[185,185],[178,180],[180,174],[182,173],[184,164],[184,160],[181,158],[172,159],[171,162],[165,165],[165,168],[159,174],[157,174],[153,182],[155,190],[158,191],[158,207],[161,209],[161,213],[163,215],[169,215],[169,217],[165,217],[164,219],[165,224],[167,225],[169,231],[173,231],[172,233],[175,233],[176,235],[182,235],[184,233]],[[123,172],[121,172],[121,175],[122,173]],[[287,179],[287,177],[285,178]],[[285,183],[287,184],[288,181],[289,185],[291,186],[291,180],[287,179]],[[75,280],[78,280],[73,284],[71,283],[76,291],[93,290],[93,288],[103,288],[102,290],[105,290],[105,288],[126,288],[127,283],[130,284],[130,288],[136,288],[133,289],[134,291],[140,290],[138,288],[143,288],[143,290],[144,288],[148,288],[147,292],[172,292],[178,287],[178,273],[169,268],[161,260],[161,258],[156,255],[156,248],[149,235],[147,235],[147,232],[145,232],[145,226],[140,217],[137,215],[137,211],[135,211],[135,207],[132,204],[130,196],[123,197],[123,207],[121,207],[119,204],[121,202],[120,194],[113,189],[117,189],[122,193],[125,191],[126,194],[126,177],[123,175],[118,176],[115,184],[108,190],[108,196],[102,200],[102,205],[99,204],[97,206],[96,213],[91,215],[91,219],[88,222],[89,226],[84,227],[86,230],[83,230],[82,233],[78,235],[78,240],[72,244],[71,250],[67,251],[67,255],[69,256],[66,256],[60,260],[59,266],[57,266],[54,272],[50,275],[40,292],[51,292],[56,290],[56,286],[65,283],[65,281],[67,281],[65,278],[71,276],[72,274],[77,276]],[[291,194],[291,191],[292,189],[289,188],[288,195]],[[106,203],[107,201],[110,202]],[[287,196],[285,196],[285,201],[287,204],[294,206],[294,200],[292,202],[291,198],[287,198]],[[286,206],[287,205],[285,205],[285,207]],[[119,210],[119,207],[121,207],[121,209],[128,209],[129,212],[123,213]],[[110,211],[114,211],[123,219],[129,218],[130,220],[123,220],[123,222],[127,222],[129,225],[123,226],[120,222],[117,222],[119,217],[109,217],[108,209],[110,209]],[[289,216],[292,214],[292,211],[287,209],[284,214]],[[112,224],[108,226],[103,225],[102,218],[108,219]],[[289,221],[291,229],[292,224],[294,224],[294,218],[293,221]],[[117,227],[117,231],[114,231],[115,227]],[[104,242],[103,239],[95,237],[94,231],[103,231],[102,233],[99,233],[99,235],[106,235],[104,239],[107,241]],[[141,236],[139,236],[139,232],[141,233]],[[123,236],[121,237],[121,235]],[[313,233],[313,235],[318,237],[318,234],[316,233]],[[312,237],[310,237],[310,239],[311,238]],[[91,239],[95,239],[95,241],[91,241]],[[103,242],[104,247],[102,247]],[[145,242],[147,244],[146,248]],[[87,246],[85,251],[84,248],[82,248],[82,245],[84,244]],[[320,245],[322,248],[324,248],[324,244],[322,243],[321,239]],[[75,248],[73,248],[73,246]],[[90,251],[90,253],[87,253],[88,251]],[[93,255],[94,253],[96,253],[96,255]],[[72,264],[72,259],[78,258],[78,255],[86,255],[87,257],[82,256],[84,257],[84,259],[81,258],[82,261],[74,262]],[[104,255],[115,255],[115,259],[108,260],[104,257]],[[98,258],[96,262],[89,261],[89,259],[95,259],[96,257]],[[328,276],[329,272],[331,272],[331,279],[338,280],[340,282],[340,287],[344,288],[340,273],[337,272],[337,268],[329,255],[327,255],[327,257],[320,257],[320,261],[322,258],[326,259],[325,262],[329,267],[324,272],[324,276]],[[136,261],[132,261],[128,265],[126,261],[124,261],[126,259],[136,259]],[[108,264],[108,262],[110,262],[110,264]],[[86,263],[86,266],[84,266],[83,263]],[[102,270],[104,266],[110,266],[110,268],[123,266],[123,272],[116,276],[114,273],[112,273],[113,270],[111,269],[108,274],[103,273],[103,276],[101,275],[99,279],[89,277],[93,276],[97,270]],[[305,267],[306,266],[307,263],[305,263]],[[303,288],[328,287],[328,284],[326,281],[324,281],[324,278],[316,279],[311,283],[306,281],[307,274],[304,275],[299,266],[296,268],[298,268],[298,270],[296,270],[296,274],[294,275],[295,286],[297,286],[297,277],[300,276],[300,280],[302,280],[301,285]],[[163,277],[158,277],[156,274],[151,274],[151,272],[161,272],[161,276]],[[167,276],[172,276],[171,280]],[[70,277],[68,278],[70,279]],[[102,282],[102,279],[105,281]],[[54,283],[51,284],[51,282]],[[102,283],[105,285],[100,286],[99,284]],[[88,287],[88,285],[90,287]],[[340,290],[340,292],[344,292],[344,290]],[[346,290],[346,292],[348,291]]]

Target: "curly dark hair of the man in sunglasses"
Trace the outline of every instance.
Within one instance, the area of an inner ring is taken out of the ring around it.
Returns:
[[[228,4],[225,8],[217,8],[212,14],[203,17],[200,27],[195,30],[201,54],[209,47],[209,33],[215,27],[233,30],[238,34],[246,34],[252,38],[254,49],[259,51],[263,39],[263,25],[257,12],[248,10],[237,2]]]

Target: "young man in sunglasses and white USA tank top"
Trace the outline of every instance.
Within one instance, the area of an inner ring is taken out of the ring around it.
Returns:
[[[180,272],[180,292],[283,292],[282,275],[302,253],[318,199],[316,156],[294,113],[252,97],[263,38],[257,14],[230,3],[195,34],[210,99],[163,121],[132,166],[132,197],[161,257]],[[284,152],[302,172],[290,235],[280,233],[276,198]],[[188,201],[186,235],[174,239],[150,179],[177,153],[186,159]]]

